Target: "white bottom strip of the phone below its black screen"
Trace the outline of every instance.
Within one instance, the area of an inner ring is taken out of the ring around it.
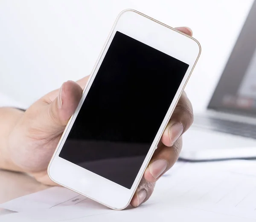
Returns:
[[[134,191],[85,170],[60,157],[48,167],[49,178],[55,183],[87,196],[109,208],[122,210],[131,202]]]

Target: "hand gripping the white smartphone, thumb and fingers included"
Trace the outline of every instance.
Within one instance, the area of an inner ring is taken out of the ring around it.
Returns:
[[[177,29],[192,35],[188,28]],[[60,89],[36,101],[9,133],[9,158],[21,171],[29,173],[39,182],[56,185],[48,177],[47,166],[68,120],[79,104],[87,80],[88,76],[77,82],[67,81]],[[151,196],[155,182],[175,164],[182,147],[181,135],[192,121],[192,105],[183,92],[131,201],[132,206],[137,207],[145,202]]]

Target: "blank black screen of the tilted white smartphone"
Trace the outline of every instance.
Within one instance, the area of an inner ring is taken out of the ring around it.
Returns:
[[[59,156],[131,189],[188,67],[116,32]]]

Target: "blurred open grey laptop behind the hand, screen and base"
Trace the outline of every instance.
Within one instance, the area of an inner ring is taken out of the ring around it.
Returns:
[[[183,135],[187,160],[256,158],[256,1],[205,113]]]

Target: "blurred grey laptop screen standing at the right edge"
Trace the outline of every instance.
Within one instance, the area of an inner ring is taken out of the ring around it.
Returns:
[[[256,1],[208,108],[256,116]]]

